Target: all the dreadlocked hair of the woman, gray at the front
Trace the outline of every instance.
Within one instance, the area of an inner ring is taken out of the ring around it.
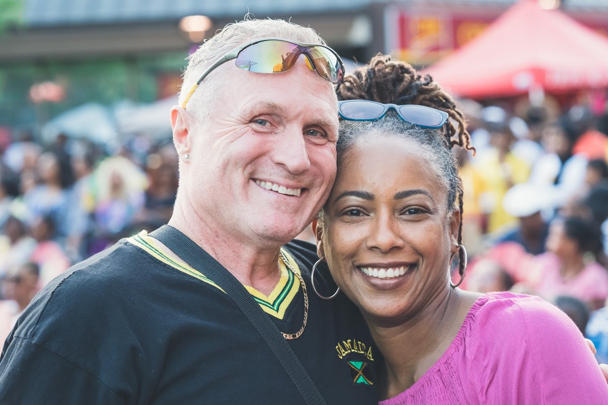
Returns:
[[[460,209],[458,244],[462,242],[463,189],[452,147],[457,145],[475,152],[466,131],[465,116],[454,99],[435,83],[430,75],[424,77],[410,64],[378,54],[370,63],[344,78],[336,89],[338,100],[371,100],[384,104],[418,104],[446,112],[450,120],[444,129],[421,128],[402,121],[392,111],[378,121],[340,121],[336,145],[338,162],[351,146],[361,138],[373,134],[399,136],[417,143],[424,151],[423,158],[437,181],[447,190],[447,206]],[[456,124],[454,124],[456,123]],[[321,213],[321,216],[323,213]],[[463,276],[464,252],[459,250],[459,273]]]

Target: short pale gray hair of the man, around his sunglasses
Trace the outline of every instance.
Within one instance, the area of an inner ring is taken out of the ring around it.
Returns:
[[[245,16],[243,21],[228,24],[212,38],[207,39],[195,53],[188,57],[189,62],[184,71],[179,104],[182,104],[188,91],[207,67],[230,50],[259,38],[283,38],[309,44],[325,44],[325,41],[312,28],[299,26],[282,19],[250,19]],[[188,101],[187,109],[190,114],[199,121],[206,121],[209,118],[209,107],[213,103],[216,89],[226,83],[227,80],[221,76],[203,80],[201,88],[196,89]]]

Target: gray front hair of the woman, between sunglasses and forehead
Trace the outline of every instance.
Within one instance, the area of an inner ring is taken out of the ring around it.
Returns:
[[[338,165],[348,155],[356,143],[381,136],[398,137],[420,146],[422,158],[429,172],[447,191],[447,209],[458,208],[457,197],[462,194],[462,183],[458,176],[458,163],[447,145],[447,138],[441,129],[421,128],[401,120],[393,112],[378,121],[340,121],[339,137],[336,145]],[[338,173],[339,175],[339,173]],[[320,214],[322,219],[323,213]]]

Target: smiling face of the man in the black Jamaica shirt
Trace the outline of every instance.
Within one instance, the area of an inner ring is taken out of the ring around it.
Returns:
[[[278,74],[233,64],[218,70],[225,85],[215,87],[221,94],[210,121],[190,128],[182,187],[212,231],[258,245],[285,243],[313,219],[333,185],[336,95],[303,57]]]

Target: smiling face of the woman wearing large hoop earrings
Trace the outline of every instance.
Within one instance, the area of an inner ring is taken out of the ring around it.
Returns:
[[[365,318],[398,324],[449,288],[460,218],[412,141],[375,137],[352,146],[317,227],[319,253]]]

